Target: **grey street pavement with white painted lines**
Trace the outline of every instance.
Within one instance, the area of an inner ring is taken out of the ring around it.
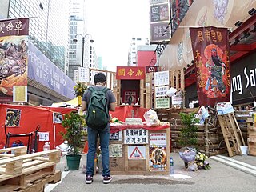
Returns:
[[[174,158],[173,175],[112,175],[110,184],[103,184],[100,174],[94,175],[94,182],[86,184],[86,154],[82,154],[81,169],[65,171],[66,157],[61,158],[57,170],[62,170],[62,181],[46,186],[45,192],[66,191],[104,191],[104,192],[150,192],[150,191],[256,191],[256,157],[249,155],[217,155],[209,158],[210,170],[188,171],[178,153],[171,153]],[[234,166],[239,165],[239,168]]]

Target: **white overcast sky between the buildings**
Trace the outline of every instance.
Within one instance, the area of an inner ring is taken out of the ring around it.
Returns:
[[[107,70],[126,66],[131,38],[149,38],[149,0],[87,0],[88,33]]]

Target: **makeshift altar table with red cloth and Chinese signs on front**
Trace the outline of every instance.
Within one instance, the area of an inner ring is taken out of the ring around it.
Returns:
[[[137,118],[130,118],[132,110]],[[123,106],[110,113],[118,119],[118,123],[110,123],[111,174],[169,174],[170,125],[146,125],[146,111]]]

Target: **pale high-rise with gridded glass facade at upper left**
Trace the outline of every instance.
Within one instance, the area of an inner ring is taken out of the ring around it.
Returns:
[[[69,0],[10,0],[7,18],[30,18],[30,41],[65,71],[69,11]]]

